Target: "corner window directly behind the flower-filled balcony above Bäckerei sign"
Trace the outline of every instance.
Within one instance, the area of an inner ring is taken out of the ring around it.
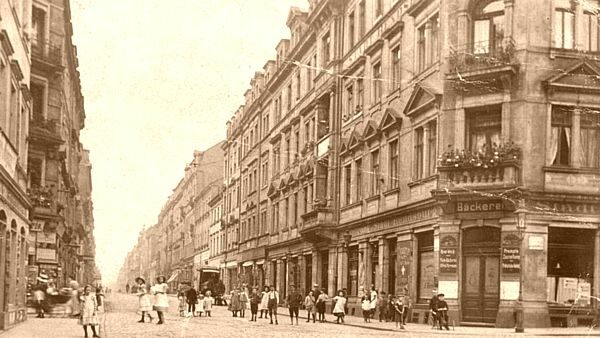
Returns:
[[[500,144],[502,108],[488,106],[467,112],[468,149],[473,153],[489,153]]]

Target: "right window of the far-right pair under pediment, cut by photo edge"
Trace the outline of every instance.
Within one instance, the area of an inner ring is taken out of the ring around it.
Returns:
[[[600,113],[581,114],[582,167],[600,168]]]

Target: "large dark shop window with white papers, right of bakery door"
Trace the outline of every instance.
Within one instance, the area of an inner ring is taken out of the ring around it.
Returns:
[[[590,305],[594,277],[595,230],[548,229],[548,301]]]

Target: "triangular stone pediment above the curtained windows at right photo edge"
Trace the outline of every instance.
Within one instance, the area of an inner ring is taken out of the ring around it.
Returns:
[[[575,63],[565,71],[544,81],[548,90],[599,92],[600,68],[590,61],[583,60]]]

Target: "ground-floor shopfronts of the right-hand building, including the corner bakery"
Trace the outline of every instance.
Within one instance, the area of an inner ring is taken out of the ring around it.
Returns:
[[[330,296],[346,289],[350,314],[374,286],[410,295],[414,322],[427,320],[436,292],[456,325],[513,327],[522,290],[526,327],[588,325],[600,289],[599,224],[598,201],[535,197],[516,207],[470,197],[342,224],[329,241],[268,247],[263,271],[280,295],[292,284]],[[238,278],[244,268],[254,265],[237,264]]]

